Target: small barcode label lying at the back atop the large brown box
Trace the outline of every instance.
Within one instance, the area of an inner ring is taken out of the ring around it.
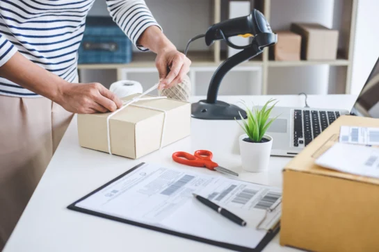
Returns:
[[[361,145],[379,145],[379,128],[341,126],[339,142]]]

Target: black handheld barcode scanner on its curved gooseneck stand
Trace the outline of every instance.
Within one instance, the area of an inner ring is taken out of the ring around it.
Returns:
[[[252,37],[252,42],[246,46],[237,46],[229,41],[229,37],[233,36]],[[197,119],[239,119],[239,112],[246,117],[244,110],[238,106],[217,101],[218,88],[221,81],[230,69],[239,65],[245,60],[249,60],[263,52],[264,47],[270,47],[277,42],[277,35],[271,31],[264,15],[258,10],[252,10],[250,15],[245,17],[236,17],[228,19],[208,28],[207,33],[198,35],[190,40],[187,44],[186,52],[189,44],[197,38],[205,37],[207,46],[213,44],[216,40],[225,40],[229,47],[234,49],[242,49],[234,56],[227,58],[218,67],[211,78],[207,94],[207,100],[198,101],[192,104],[192,117]]]

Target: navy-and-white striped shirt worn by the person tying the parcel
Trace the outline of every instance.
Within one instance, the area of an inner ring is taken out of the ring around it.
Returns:
[[[0,67],[17,51],[65,81],[77,81],[77,51],[95,0],[0,0]],[[141,51],[138,37],[156,21],[143,0],[106,1],[118,26]],[[159,26],[159,28],[161,28]],[[0,95],[40,97],[0,77]]]

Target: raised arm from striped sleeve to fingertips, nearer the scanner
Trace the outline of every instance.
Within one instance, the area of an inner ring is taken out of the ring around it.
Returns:
[[[109,13],[131,42],[141,51],[156,53],[159,89],[180,83],[189,71],[191,60],[176,47],[156,22],[143,0],[106,0]]]

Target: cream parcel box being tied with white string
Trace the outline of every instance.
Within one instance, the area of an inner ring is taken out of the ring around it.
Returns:
[[[123,98],[131,100],[134,94]],[[151,97],[151,96],[143,96]],[[191,133],[191,103],[173,99],[138,101],[120,110],[109,119],[111,151],[127,158],[140,158],[159,149],[165,113],[166,122],[162,146],[172,144]],[[106,117],[110,113],[78,115],[79,144],[82,147],[108,152]]]

